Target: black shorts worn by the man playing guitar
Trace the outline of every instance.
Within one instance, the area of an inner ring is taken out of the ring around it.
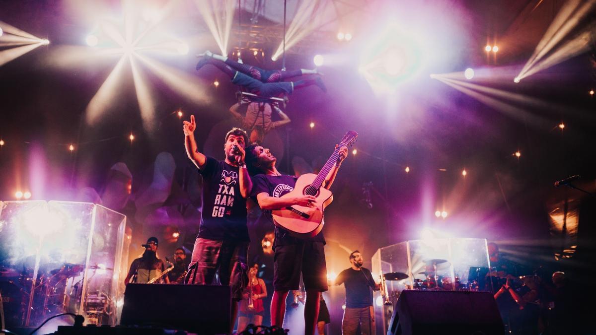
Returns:
[[[327,264],[323,242],[301,241],[298,244],[276,246],[274,255],[273,289],[298,290],[300,274],[305,290],[327,291]]]

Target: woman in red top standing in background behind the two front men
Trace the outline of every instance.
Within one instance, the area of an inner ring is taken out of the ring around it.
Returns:
[[[243,331],[248,324],[262,325],[265,308],[263,298],[267,296],[265,281],[258,278],[259,263],[253,262],[249,268],[249,284],[244,289],[243,299],[238,314],[237,333]]]

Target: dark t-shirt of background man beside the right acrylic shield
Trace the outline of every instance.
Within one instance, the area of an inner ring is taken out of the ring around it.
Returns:
[[[373,290],[375,282],[373,274],[366,269],[360,268],[360,271],[349,268],[340,272],[335,280],[336,285],[346,287],[346,307],[364,308],[373,306]]]

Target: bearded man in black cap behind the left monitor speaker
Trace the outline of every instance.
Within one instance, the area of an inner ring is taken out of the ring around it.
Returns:
[[[157,258],[157,237],[150,237],[147,239],[146,244],[141,244],[141,247],[145,247],[143,255],[132,261],[131,269],[126,275],[124,284],[128,283],[148,283],[153,278],[162,275],[163,271],[166,271],[166,263],[163,260]],[[169,284],[170,281],[167,276],[162,279],[163,283]]]

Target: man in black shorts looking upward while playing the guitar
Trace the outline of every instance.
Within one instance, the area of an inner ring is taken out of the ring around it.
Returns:
[[[333,167],[327,173],[322,187],[328,189],[333,184],[337,170],[347,156],[347,147],[342,146],[334,156]],[[297,178],[282,175],[275,168],[277,159],[269,149],[260,145],[246,148],[246,163],[253,176],[253,189],[250,196],[255,199],[270,221],[271,210],[285,209],[288,206],[315,207],[316,197],[301,195],[283,197],[294,190]],[[322,232],[309,237],[297,238],[290,231],[275,226],[274,241],[274,293],[271,300],[271,324],[282,327],[285,314],[285,299],[290,290],[299,289],[300,274],[306,290],[305,334],[315,333],[319,312],[319,299],[322,291],[327,291],[327,265],[325,264],[325,238]]]

